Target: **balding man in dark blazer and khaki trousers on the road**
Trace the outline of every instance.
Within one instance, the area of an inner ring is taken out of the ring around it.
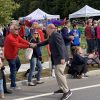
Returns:
[[[67,80],[64,75],[64,70],[68,61],[68,54],[66,52],[64,40],[61,34],[56,32],[54,24],[48,25],[47,34],[49,35],[49,39],[38,43],[37,46],[44,46],[46,44],[50,45],[50,51],[55,65],[55,75],[60,88],[60,90],[55,91],[55,93],[64,93],[61,100],[67,100],[72,93],[67,86]]]

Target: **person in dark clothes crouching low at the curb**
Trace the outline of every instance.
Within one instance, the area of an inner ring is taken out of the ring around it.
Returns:
[[[83,56],[83,51],[81,47],[75,47],[73,53],[73,60],[71,66],[69,67],[68,73],[73,76],[73,78],[82,78],[82,74],[87,72],[87,59]]]

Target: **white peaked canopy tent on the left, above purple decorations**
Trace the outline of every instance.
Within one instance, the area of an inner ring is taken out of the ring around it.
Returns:
[[[26,19],[34,19],[34,20],[42,20],[42,19],[59,19],[60,15],[50,15],[47,14],[46,12],[42,11],[41,9],[37,9],[34,12],[32,12],[31,14],[27,15],[26,17],[24,17]]]

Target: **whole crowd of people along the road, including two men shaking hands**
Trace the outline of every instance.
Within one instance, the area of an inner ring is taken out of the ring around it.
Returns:
[[[44,83],[41,81],[42,73],[42,46],[47,45],[48,54],[51,57],[53,73],[59,86],[59,90],[54,93],[63,93],[61,100],[67,100],[72,92],[68,88],[64,71],[69,67],[68,73],[73,78],[81,79],[87,77],[87,61],[98,54],[100,59],[100,22],[89,19],[84,27],[87,41],[87,55],[81,48],[81,32],[78,24],[67,20],[59,30],[50,23],[44,27],[38,22],[30,23],[25,20],[11,21],[8,27],[0,28],[0,97],[4,98],[4,93],[12,93],[13,90],[20,89],[16,84],[16,74],[21,66],[19,50],[33,48],[30,59],[28,75],[28,86],[36,86]],[[71,29],[72,26],[72,29]],[[4,75],[4,57],[10,67],[10,90],[6,87]],[[35,73],[36,72],[36,73]],[[32,81],[35,73],[36,82]]]

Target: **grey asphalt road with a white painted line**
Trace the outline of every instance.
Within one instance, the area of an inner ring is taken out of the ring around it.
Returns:
[[[43,79],[45,83],[37,86],[20,84],[21,90],[6,94],[4,100],[60,100],[62,94],[53,94],[58,89],[55,78]],[[85,79],[68,79],[72,90],[69,100],[100,100],[100,76],[90,76]]]

